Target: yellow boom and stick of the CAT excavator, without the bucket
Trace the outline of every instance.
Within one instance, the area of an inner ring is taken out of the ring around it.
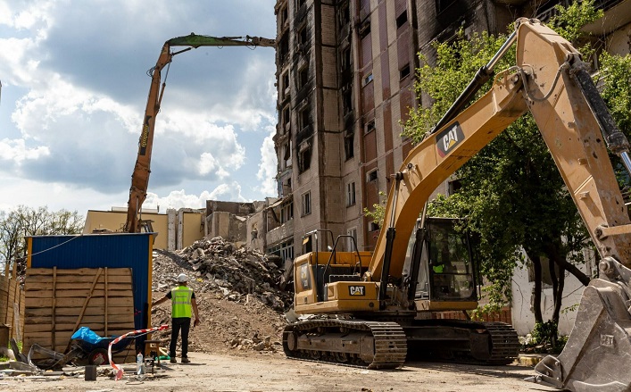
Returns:
[[[500,73],[485,96],[416,146],[394,175],[384,219],[389,227],[379,233],[365,279],[382,279],[384,286],[387,276],[401,275],[407,241],[432,192],[527,111],[601,255],[631,261],[627,207],[603,139],[623,162],[628,142],[585,68],[577,50],[552,29],[519,20],[516,69]]]

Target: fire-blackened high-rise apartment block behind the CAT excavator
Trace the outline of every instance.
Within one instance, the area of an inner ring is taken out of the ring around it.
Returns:
[[[274,141],[284,214],[267,245],[302,254],[311,250],[303,248],[303,237],[327,229],[334,237],[352,236],[360,250],[372,249],[379,228],[363,208],[381,202],[411,150],[401,137],[410,108],[430,104],[413,93],[417,54],[434,58],[431,43],[449,41],[459,29],[465,35],[505,32],[519,17],[545,21],[555,4],[569,3],[278,0]],[[608,11],[629,3],[596,5]],[[438,191],[447,194],[447,184]],[[319,243],[320,249],[333,246],[325,233]]]

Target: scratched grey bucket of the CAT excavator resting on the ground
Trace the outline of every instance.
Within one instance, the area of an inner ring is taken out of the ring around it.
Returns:
[[[565,348],[538,363],[528,381],[575,392],[631,391],[631,270],[610,257],[599,268],[604,277],[585,288]]]

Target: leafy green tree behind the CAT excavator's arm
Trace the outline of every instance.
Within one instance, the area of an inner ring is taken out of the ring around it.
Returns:
[[[580,47],[589,62],[595,53],[594,43],[580,28],[602,17],[602,12],[594,10],[593,1],[575,3],[568,8],[557,6],[557,11],[558,15],[548,25]],[[421,56],[415,90],[417,96],[428,96],[433,104],[412,110],[403,134],[415,141],[422,140],[505,39],[484,32],[468,39],[461,35],[452,44],[436,43],[436,65]],[[514,65],[514,58],[514,51],[507,54],[497,69]],[[602,96],[628,136],[631,133],[629,56],[602,54],[600,59]],[[488,88],[490,82],[481,91]],[[588,244],[589,236],[532,117],[527,114],[515,121],[456,175],[461,182],[459,192],[436,199],[430,204],[429,213],[469,217],[468,228],[480,240],[481,270],[490,282],[487,294],[491,309],[511,300],[512,271],[518,263],[529,259],[535,271],[536,321],[543,323],[542,268],[548,266],[554,292],[552,323],[556,336],[565,271],[585,285],[590,279],[577,268],[577,264],[584,262],[581,250]]]

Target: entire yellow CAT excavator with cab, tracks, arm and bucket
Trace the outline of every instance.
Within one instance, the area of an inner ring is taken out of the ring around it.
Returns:
[[[495,74],[513,44],[516,66]],[[492,77],[492,88],[467,106]],[[374,251],[336,251],[340,236],[328,251],[316,245],[295,258],[299,317],[283,332],[288,357],[388,369],[401,367],[408,354],[492,364],[519,354],[508,324],[428,318],[475,308],[478,280],[462,234],[452,222],[426,218],[424,206],[439,184],[528,111],[602,258],[565,349],[537,364],[530,380],[574,391],[631,390],[631,225],[608,155],[609,149],[631,171],[629,143],[581,54],[525,18],[392,176],[386,228]],[[316,240],[318,234],[311,233]]]

